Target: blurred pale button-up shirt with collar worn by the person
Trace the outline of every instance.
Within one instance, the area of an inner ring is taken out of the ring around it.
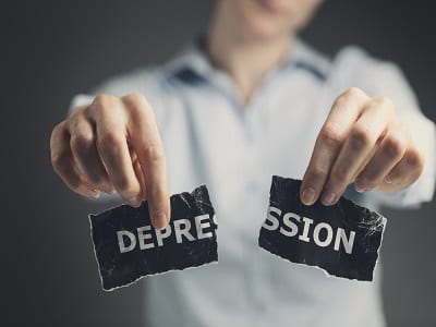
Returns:
[[[424,173],[397,194],[349,197],[415,205],[433,197],[435,128],[400,70],[347,47],[332,60],[298,40],[242,108],[237,88],[192,45],[169,63],[112,78],[95,94],[143,93],[155,109],[171,193],[206,184],[218,220],[219,263],[145,279],[147,326],[384,326],[380,265],[373,282],[327,277],[261,250],[272,174],[301,179],[319,129],[350,86],[388,96],[426,157]],[[72,107],[92,100],[78,95]],[[389,225],[388,227],[389,228]]]

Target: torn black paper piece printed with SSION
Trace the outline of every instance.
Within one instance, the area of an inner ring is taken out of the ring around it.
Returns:
[[[301,181],[272,177],[261,247],[337,277],[373,280],[386,218],[341,197],[334,206],[300,201]]]

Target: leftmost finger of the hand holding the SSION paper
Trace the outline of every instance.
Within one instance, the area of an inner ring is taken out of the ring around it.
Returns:
[[[305,205],[314,204],[319,197],[335,158],[367,98],[362,90],[350,88],[334,102],[303,177],[300,197]]]

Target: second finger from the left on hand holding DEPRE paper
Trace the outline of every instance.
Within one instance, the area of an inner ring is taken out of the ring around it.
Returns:
[[[70,147],[77,168],[95,189],[112,193],[113,185],[100,160],[93,124],[83,114],[77,113],[69,121],[69,131]]]

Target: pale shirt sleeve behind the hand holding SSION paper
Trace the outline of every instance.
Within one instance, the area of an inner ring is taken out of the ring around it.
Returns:
[[[429,202],[434,195],[436,180],[436,132],[433,121],[421,111],[416,96],[402,71],[392,62],[379,61],[368,57],[356,48],[350,48],[341,55],[342,70],[346,70],[351,83],[361,87],[368,96],[386,96],[395,105],[399,118],[412,133],[412,137],[425,164],[421,177],[408,189],[396,193],[370,192],[372,201],[391,207],[417,206]],[[354,83],[353,83],[354,82]]]

